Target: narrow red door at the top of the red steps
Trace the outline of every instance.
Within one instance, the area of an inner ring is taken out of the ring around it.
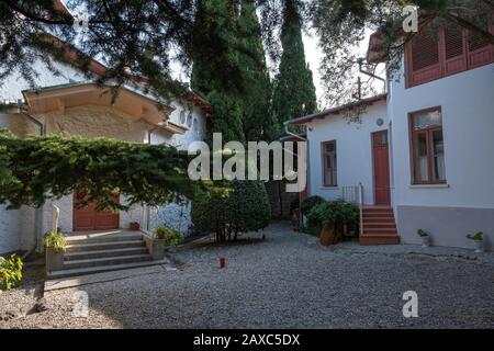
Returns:
[[[388,149],[388,131],[372,133],[372,160],[375,204],[390,205],[390,157]]]

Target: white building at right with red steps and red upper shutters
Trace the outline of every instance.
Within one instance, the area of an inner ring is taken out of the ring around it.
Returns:
[[[370,61],[379,47],[374,34]],[[308,195],[347,196],[361,183],[362,244],[418,244],[420,228],[434,245],[465,248],[467,234],[483,231],[492,249],[493,63],[493,45],[465,30],[423,32],[388,94],[289,121],[307,127]],[[349,122],[357,106],[361,121]]]

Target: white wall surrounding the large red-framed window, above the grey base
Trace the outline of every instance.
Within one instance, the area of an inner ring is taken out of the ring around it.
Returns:
[[[391,82],[395,205],[494,208],[494,65],[405,89]],[[408,113],[441,106],[449,188],[411,186]]]

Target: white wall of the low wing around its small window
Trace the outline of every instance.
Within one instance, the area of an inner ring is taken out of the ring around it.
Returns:
[[[384,121],[378,126],[377,120]],[[363,184],[366,204],[373,204],[371,133],[388,128],[385,101],[367,107],[361,123],[348,122],[344,114],[314,120],[307,125],[310,149],[310,194],[327,200],[341,196],[343,186]],[[338,186],[323,185],[321,143],[336,140]]]

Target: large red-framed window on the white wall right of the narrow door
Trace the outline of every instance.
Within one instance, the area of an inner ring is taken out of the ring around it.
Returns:
[[[446,183],[442,116],[438,107],[411,114],[414,184]]]

